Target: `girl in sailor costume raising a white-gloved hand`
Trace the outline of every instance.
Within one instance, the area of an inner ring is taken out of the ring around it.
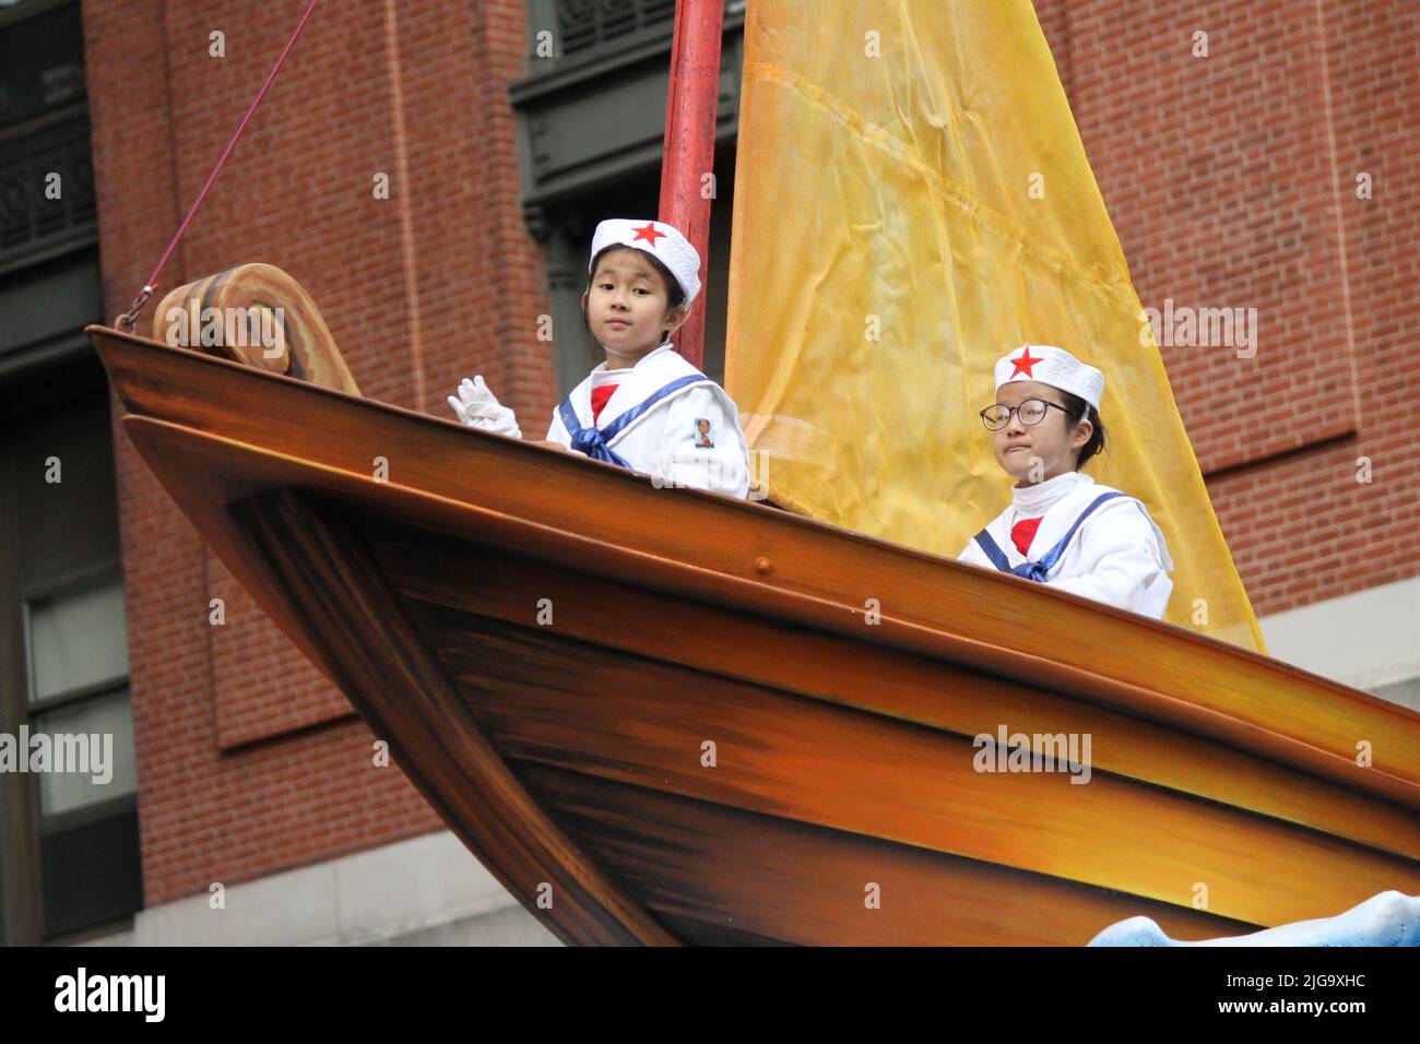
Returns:
[[[548,442],[646,472],[659,484],[744,497],[740,413],[669,339],[700,291],[700,254],[663,222],[618,217],[596,226],[586,271],[582,317],[606,361],[552,410]],[[449,405],[466,425],[521,436],[481,376],[464,379]]]

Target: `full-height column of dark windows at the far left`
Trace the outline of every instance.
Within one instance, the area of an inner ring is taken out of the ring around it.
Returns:
[[[80,4],[0,0],[0,733],[51,749],[0,773],[9,943],[142,906],[101,307]]]

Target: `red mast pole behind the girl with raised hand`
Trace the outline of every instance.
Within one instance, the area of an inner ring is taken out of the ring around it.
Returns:
[[[660,220],[674,224],[700,251],[701,288],[676,348],[693,365],[704,359],[710,281],[709,176],[714,173],[716,102],[720,97],[720,31],[724,0],[676,0],[666,95],[666,145],[660,166]]]

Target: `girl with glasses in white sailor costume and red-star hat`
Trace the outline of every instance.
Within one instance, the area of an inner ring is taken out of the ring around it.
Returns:
[[[1173,592],[1163,533],[1139,500],[1079,472],[1105,446],[1105,375],[1062,348],[1025,345],[995,364],[995,385],[981,420],[1017,483],[960,561],[1162,619]]]

